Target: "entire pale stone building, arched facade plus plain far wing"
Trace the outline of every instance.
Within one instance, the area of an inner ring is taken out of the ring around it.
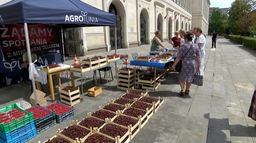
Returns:
[[[3,4],[9,0],[3,0]],[[117,15],[117,47],[131,48],[151,44],[154,32],[162,40],[176,30],[202,27],[208,30],[209,0],[81,0]],[[195,15],[193,15],[195,14]],[[83,27],[65,30],[65,54],[83,56],[111,51],[115,46],[115,27]]]

